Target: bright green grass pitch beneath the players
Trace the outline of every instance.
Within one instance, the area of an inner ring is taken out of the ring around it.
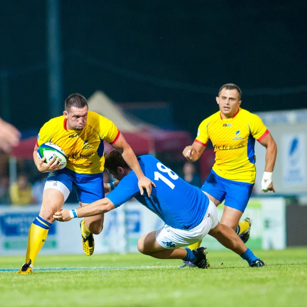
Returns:
[[[228,251],[209,252],[209,270],[141,254],[38,256],[36,268],[172,267],[0,272],[0,306],[307,306],[307,249],[255,254],[266,268],[249,268]],[[0,269],[17,271],[23,260],[0,257]]]

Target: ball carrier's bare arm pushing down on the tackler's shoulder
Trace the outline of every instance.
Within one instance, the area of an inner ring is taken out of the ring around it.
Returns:
[[[121,153],[126,163],[129,165],[129,167],[135,172],[136,176],[138,177],[139,179],[138,186],[139,186],[141,195],[143,195],[144,193],[143,188],[145,188],[147,191],[148,197],[150,197],[151,185],[153,185],[154,187],[156,187],[156,185],[150,179],[145,177],[145,175],[143,174],[141,170],[140,164],[138,162],[138,159],[134,151],[132,150],[130,145],[126,142],[122,134],[119,136],[118,140],[114,144],[112,144],[112,146],[118,152]]]

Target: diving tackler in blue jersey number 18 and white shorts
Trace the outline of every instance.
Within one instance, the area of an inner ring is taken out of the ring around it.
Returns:
[[[208,267],[204,247],[194,250],[182,248],[201,240],[206,234],[231,249],[251,267],[264,267],[264,262],[248,249],[233,229],[217,220],[215,205],[207,195],[184,180],[151,155],[138,158],[145,176],[156,183],[151,195],[141,195],[138,179],[120,153],[112,150],[105,156],[105,168],[117,180],[118,186],[106,198],[74,210],[61,210],[53,217],[58,221],[70,221],[74,217],[93,216],[119,207],[131,198],[156,213],[165,225],[143,235],[138,250],[159,259],[183,259],[200,269]]]

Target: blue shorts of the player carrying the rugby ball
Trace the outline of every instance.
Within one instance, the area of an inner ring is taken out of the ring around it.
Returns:
[[[78,201],[81,203],[90,204],[104,198],[103,173],[79,174],[63,168],[50,172],[48,180],[63,183],[71,192],[75,187]]]

